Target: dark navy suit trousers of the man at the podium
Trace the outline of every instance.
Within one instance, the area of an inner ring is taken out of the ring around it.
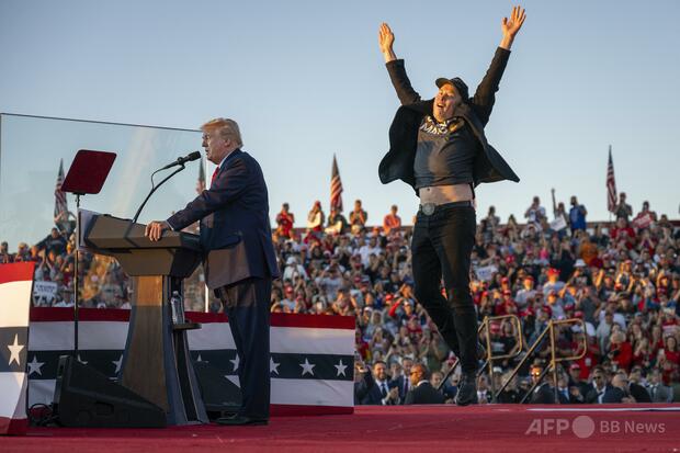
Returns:
[[[269,278],[246,279],[215,291],[229,317],[239,358],[237,371],[242,395],[239,415],[254,419],[269,419],[271,293]]]

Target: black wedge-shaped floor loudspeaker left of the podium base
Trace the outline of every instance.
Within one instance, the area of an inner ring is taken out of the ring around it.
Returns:
[[[70,355],[59,358],[54,408],[65,427],[166,426],[163,409]]]

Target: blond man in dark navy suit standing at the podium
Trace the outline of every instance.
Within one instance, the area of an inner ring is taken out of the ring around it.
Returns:
[[[267,424],[270,404],[269,306],[280,275],[269,225],[267,184],[242,146],[238,124],[213,120],[202,127],[207,159],[217,165],[211,188],[146,234],[159,240],[201,220],[206,284],[222,301],[236,343],[242,405],[223,424]]]

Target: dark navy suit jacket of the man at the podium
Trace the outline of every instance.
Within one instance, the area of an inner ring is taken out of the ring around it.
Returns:
[[[201,220],[205,281],[211,290],[251,276],[280,276],[260,165],[240,149],[222,163],[214,183],[168,223],[182,229]]]

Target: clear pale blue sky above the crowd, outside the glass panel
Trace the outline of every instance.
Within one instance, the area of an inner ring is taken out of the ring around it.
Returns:
[[[473,91],[512,4],[0,0],[0,112],[190,129],[231,117],[262,166],[272,217],[283,202],[297,226],[315,200],[328,211],[335,154],[345,211],[361,199],[379,223],[396,203],[409,224],[413,191],[377,177],[398,107],[378,26],[394,30],[423,98],[438,77],[460,76]],[[609,219],[611,145],[634,211],[648,200],[678,218],[680,2],[522,4],[526,22],[486,127],[521,182],[479,186],[478,216],[495,205],[503,220],[521,218],[533,195],[549,211],[554,188],[558,201],[577,195],[589,220]]]

